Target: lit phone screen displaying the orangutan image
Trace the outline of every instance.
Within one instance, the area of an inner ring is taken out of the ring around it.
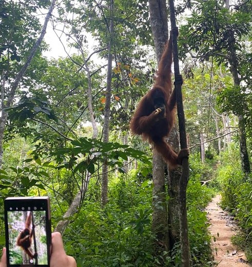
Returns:
[[[46,211],[17,209],[7,213],[10,265],[47,265]]]

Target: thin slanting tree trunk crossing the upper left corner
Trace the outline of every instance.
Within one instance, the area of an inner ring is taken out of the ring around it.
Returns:
[[[25,64],[21,68],[20,72],[18,72],[17,75],[16,75],[16,78],[15,78],[15,80],[14,80],[14,82],[13,82],[11,88],[10,88],[10,92],[9,92],[9,95],[8,95],[8,99],[7,99],[7,103],[5,105],[5,108],[12,106],[13,99],[14,99],[14,96],[15,96],[15,92],[16,92],[16,89],[17,89],[19,83],[20,83],[20,80],[23,78],[27,68],[31,64],[33,56],[35,55],[38,47],[40,47],[40,45],[41,45],[41,43],[42,43],[42,41],[44,39],[44,36],[46,34],[47,24],[48,24],[48,21],[49,21],[51,15],[52,15],[52,11],[54,9],[55,2],[56,2],[56,0],[52,0],[51,6],[50,6],[50,8],[48,10],[48,13],[47,13],[45,21],[44,21],[44,25],[43,25],[41,34],[38,37],[36,43],[31,48],[30,54],[29,54],[29,56],[27,58],[27,61],[25,62]],[[4,92],[4,89],[5,89],[4,88],[4,82],[2,82],[2,93]],[[5,130],[5,126],[6,126],[6,121],[7,121],[7,113],[4,110],[2,110],[2,116],[0,118],[0,168],[2,167],[3,139],[4,139],[4,130]]]

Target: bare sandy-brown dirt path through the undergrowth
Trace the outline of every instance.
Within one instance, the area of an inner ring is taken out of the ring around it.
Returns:
[[[207,206],[207,218],[211,225],[209,231],[212,235],[212,251],[218,267],[243,267],[252,266],[246,263],[244,252],[238,251],[236,246],[230,241],[231,236],[235,234],[234,225],[227,221],[227,213],[225,213],[218,203],[220,196],[212,199]],[[214,241],[214,238],[216,241]]]

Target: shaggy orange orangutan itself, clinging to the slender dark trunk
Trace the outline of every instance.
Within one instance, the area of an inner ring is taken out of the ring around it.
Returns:
[[[135,135],[153,144],[157,151],[169,163],[170,167],[181,164],[181,158],[188,157],[188,150],[179,155],[165,141],[175,123],[176,92],[171,86],[172,44],[171,38],[161,57],[157,77],[153,87],[140,100],[130,122]],[[157,106],[158,104],[160,106]],[[157,112],[157,109],[161,112]]]

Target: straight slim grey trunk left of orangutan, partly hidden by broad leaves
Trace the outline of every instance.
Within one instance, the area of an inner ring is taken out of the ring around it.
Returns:
[[[109,117],[110,117],[110,103],[111,103],[111,79],[112,79],[112,39],[113,39],[113,0],[110,2],[110,24],[108,29],[109,43],[108,43],[108,68],[107,68],[107,92],[104,109],[104,124],[103,124],[103,142],[109,141]],[[102,168],[102,207],[108,202],[108,165],[105,163]]]

